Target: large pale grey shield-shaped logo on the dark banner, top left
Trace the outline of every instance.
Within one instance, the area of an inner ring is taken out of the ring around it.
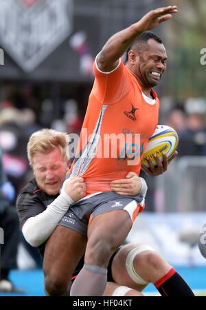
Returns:
[[[73,0],[1,0],[0,43],[25,72],[71,33]]]

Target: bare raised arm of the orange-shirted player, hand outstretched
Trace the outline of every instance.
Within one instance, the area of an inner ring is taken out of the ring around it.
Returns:
[[[151,30],[163,21],[172,18],[172,14],[178,12],[176,6],[167,6],[148,12],[137,23],[114,34],[98,54],[98,68],[104,72],[110,72],[117,67],[118,59],[126,52],[131,43],[144,31]]]

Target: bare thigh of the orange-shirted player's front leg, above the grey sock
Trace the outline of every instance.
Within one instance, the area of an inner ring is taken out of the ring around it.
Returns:
[[[93,218],[88,227],[88,244],[108,242],[116,248],[128,236],[132,220],[125,210],[115,210],[100,214]]]

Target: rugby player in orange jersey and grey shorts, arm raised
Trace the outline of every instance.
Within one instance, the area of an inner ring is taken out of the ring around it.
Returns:
[[[58,269],[60,259],[63,265],[67,265],[68,259],[79,261],[81,245],[84,248],[87,242],[84,267],[73,282],[71,296],[101,296],[106,286],[108,262],[128,236],[139,211],[144,209],[144,180],[139,187],[141,195],[132,198],[111,192],[109,184],[111,180],[126,178],[130,171],[140,172],[141,154],[158,123],[159,100],[152,87],[161,79],[167,59],[161,40],[143,32],[171,19],[176,12],[176,6],[149,12],[111,37],[95,60],[95,81],[82,125],[80,156],[76,154],[70,171],[71,176],[84,178],[87,197],[71,205],[47,242],[45,287],[50,293],[55,293],[51,270]],[[124,65],[119,57],[130,46]],[[88,141],[84,130],[91,135]],[[130,145],[127,141],[123,145],[119,143],[115,157],[101,156],[100,142],[103,149],[107,147],[104,134],[117,136],[125,132],[132,135]],[[135,140],[135,134],[139,141]],[[162,172],[161,163],[157,169]],[[67,274],[73,272],[72,268],[71,265],[69,271],[67,266]]]

